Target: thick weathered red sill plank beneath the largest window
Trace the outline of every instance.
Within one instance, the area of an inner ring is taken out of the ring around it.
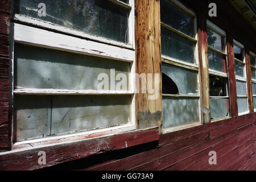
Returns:
[[[87,156],[118,150],[159,139],[158,127],[99,137],[79,142],[57,144],[25,151],[0,153],[0,170],[33,170]],[[46,164],[38,164],[39,151],[46,152]]]

